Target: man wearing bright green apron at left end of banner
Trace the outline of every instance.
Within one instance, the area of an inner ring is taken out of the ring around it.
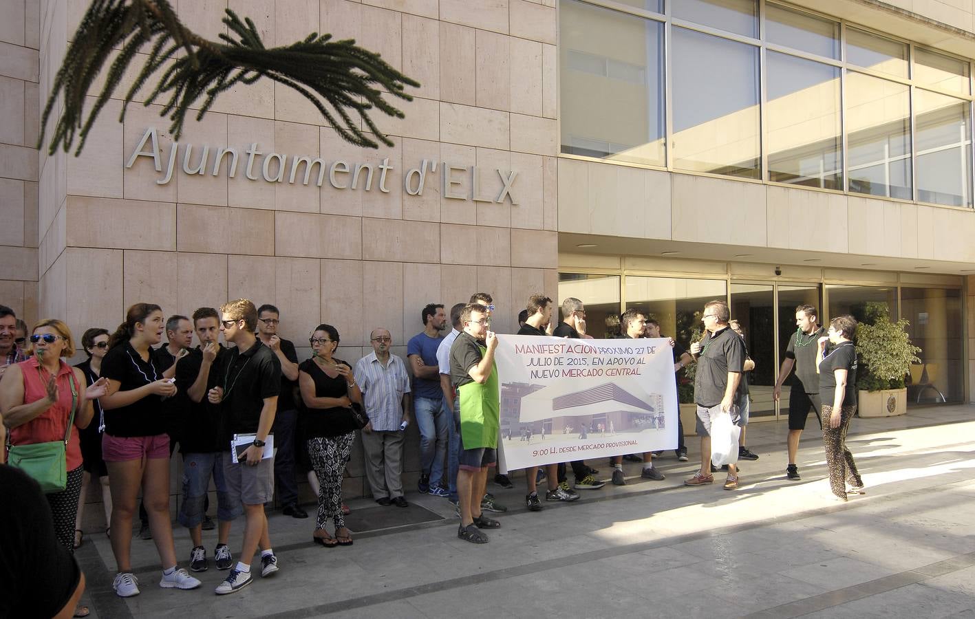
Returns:
[[[487,544],[482,528],[499,528],[500,522],[481,512],[487,486],[487,469],[497,464],[497,437],[501,399],[494,349],[497,337],[487,330],[487,307],[468,303],[460,313],[463,331],[450,346],[450,378],[460,399],[460,451],[457,495],[460,528],[457,537]],[[482,344],[483,342],[483,344]]]

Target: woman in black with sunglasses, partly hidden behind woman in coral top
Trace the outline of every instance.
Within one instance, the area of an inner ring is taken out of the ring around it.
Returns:
[[[101,371],[101,360],[108,352],[108,330],[93,328],[86,330],[81,336],[81,346],[85,349],[88,359],[81,362],[78,368],[85,374],[85,380],[91,386],[98,382]],[[74,547],[80,548],[84,541],[84,533],[81,531],[81,522],[85,517],[85,488],[92,484],[94,479],[98,479],[101,488],[101,504],[105,510],[105,533],[111,532],[112,516],[112,494],[108,489],[108,469],[105,461],[101,458],[101,434],[105,430],[104,413],[98,400],[92,405],[95,414],[92,423],[78,433],[81,439],[82,466],[85,469],[85,479],[81,484],[81,495],[78,497],[78,516],[74,522]]]

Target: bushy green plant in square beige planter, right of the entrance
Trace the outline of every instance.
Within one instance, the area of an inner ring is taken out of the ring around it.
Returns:
[[[919,364],[920,348],[908,337],[908,321],[886,315],[856,328],[858,411],[861,417],[887,417],[907,412],[904,377]]]

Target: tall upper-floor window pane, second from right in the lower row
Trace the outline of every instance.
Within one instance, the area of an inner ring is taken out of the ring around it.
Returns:
[[[910,87],[846,73],[849,190],[911,200]]]

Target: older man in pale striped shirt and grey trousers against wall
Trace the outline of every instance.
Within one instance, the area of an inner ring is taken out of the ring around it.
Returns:
[[[389,329],[372,329],[370,343],[372,352],[355,368],[370,419],[362,435],[366,479],[376,503],[407,507],[402,463],[403,437],[409,423],[409,375],[403,360],[389,352],[393,345]]]

